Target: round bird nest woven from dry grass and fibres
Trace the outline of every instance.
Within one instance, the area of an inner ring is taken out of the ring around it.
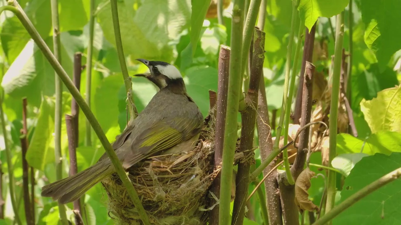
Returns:
[[[214,110],[211,110],[214,112]],[[127,172],[150,222],[155,225],[206,224],[213,169],[215,117],[205,119],[198,145],[188,152],[154,156]],[[140,225],[138,211],[118,175],[103,180],[109,216],[117,224]]]

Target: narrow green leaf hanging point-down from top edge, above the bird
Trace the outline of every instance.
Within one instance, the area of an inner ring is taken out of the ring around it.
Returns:
[[[206,12],[209,8],[211,0],[191,0],[191,43],[192,43],[192,53],[194,54],[196,50],[196,44],[198,43],[199,36],[201,35],[201,30],[203,26],[203,21],[205,20]]]

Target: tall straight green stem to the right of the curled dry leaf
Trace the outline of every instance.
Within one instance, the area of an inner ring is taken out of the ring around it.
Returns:
[[[336,157],[336,144],[337,144],[337,117],[338,117],[338,95],[340,92],[340,72],[341,72],[341,58],[342,58],[342,41],[344,38],[344,12],[337,15],[336,25],[336,44],[334,47],[334,68],[332,78],[332,94],[330,102],[330,118],[329,118],[329,159],[328,165]],[[334,199],[336,196],[336,173],[328,171],[327,177],[327,203],[326,213],[329,213],[334,207]]]

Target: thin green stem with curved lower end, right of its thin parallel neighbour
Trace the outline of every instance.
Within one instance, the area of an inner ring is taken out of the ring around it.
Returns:
[[[295,86],[295,77],[297,74],[297,68],[298,68],[298,58],[299,58],[299,53],[300,49],[302,46],[302,32],[304,31],[304,24],[300,22],[300,20],[297,20],[297,23],[300,24],[299,26],[299,31],[298,31],[298,42],[295,48],[295,55],[294,55],[294,63],[292,64],[292,74],[291,74],[291,81],[290,81],[290,91],[288,92],[288,99],[287,99],[287,106],[286,106],[286,111],[285,111],[285,120],[284,120],[284,145],[287,145],[288,143],[288,129],[290,126],[290,114],[291,114],[291,103],[292,103],[292,96],[294,96],[294,86]],[[294,27],[295,29],[295,27]],[[294,140],[295,141],[295,140]],[[286,168],[286,175],[287,175],[287,180],[290,185],[294,185],[295,181],[294,178],[291,175],[290,171],[290,163],[288,162],[288,151],[287,149],[284,149],[283,151],[283,161],[284,161],[284,168]]]

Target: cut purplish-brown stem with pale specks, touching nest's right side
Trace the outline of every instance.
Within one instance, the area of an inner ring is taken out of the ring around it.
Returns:
[[[228,92],[228,78],[230,68],[230,49],[225,45],[220,46],[219,53],[219,82],[217,88],[217,113],[216,113],[216,134],[215,134],[215,168],[221,167],[223,157],[223,141],[224,141],[224,127],[225,116],[227,111],[227,92]],[[220,182],[221,174],[217,174],[213,180],[211,191],[220,198]],[[216,202],[211,200],[211,204]],[[211,225],[219,224],[219,205],[216,205],[210,212]]]

